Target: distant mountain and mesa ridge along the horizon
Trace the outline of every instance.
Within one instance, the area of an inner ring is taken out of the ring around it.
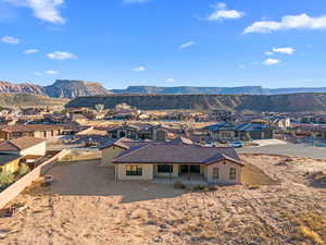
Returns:
[[[298,93],[326,93],[326,87],[292,87],[292,88],[264,88],[262,86],[238,86],[238,87],[160,87],[160,86],[128,86],[125,89],[106,89],[100,83],[57,79],[48,86],[33,83],[13,84],[0,81],[0,93],[30,94],[49,96],[52,98],[74,99],[80,96],[98,95],[285,95]]]

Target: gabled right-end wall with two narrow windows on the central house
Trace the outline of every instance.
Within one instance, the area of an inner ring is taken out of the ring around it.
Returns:
[[[217,180],[213,179],[213,168],[218,167]],[[209,183],[218,183],[218,184],[240,184],[241,183],[241,166],[234,163],[231,161],[224,160],[223,162],[217,162],[215,164],[206,166],[206,180]],[[230,168],[236,169],[236,180],[229,179]]]

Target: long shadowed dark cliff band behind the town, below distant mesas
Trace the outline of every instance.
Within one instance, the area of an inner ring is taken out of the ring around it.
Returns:
[[[111,95],[78,97],[67,108],[128,103],[142,110],[226,109],[233,111],[326,111],[326,94],[290,95]]]

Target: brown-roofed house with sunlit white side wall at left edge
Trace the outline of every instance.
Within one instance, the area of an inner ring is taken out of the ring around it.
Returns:
[[[46,140],[41,138],[25,136],[11,140],[3,140],[0,143],[1,155],[46,156]]]

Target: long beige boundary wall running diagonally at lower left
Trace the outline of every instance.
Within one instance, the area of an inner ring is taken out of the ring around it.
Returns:
[[[0,208],[3,208],[9,201],[15,198],[20,193],[22,193],[27,186],[29,186],[40,175],[49,171],[58,160],[70,154],[70,150],[62,150],[54,155],[29,173],[17,180],[15,183],[11,184],[8,188],[0,193]]]

